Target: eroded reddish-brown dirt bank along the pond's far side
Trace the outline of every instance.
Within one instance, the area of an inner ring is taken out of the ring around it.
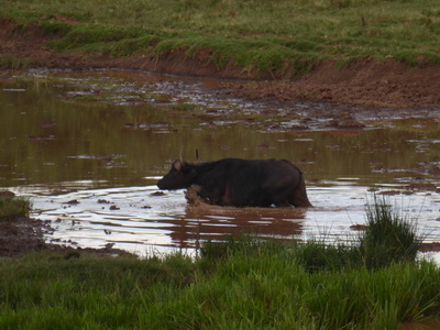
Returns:
[[[50,68],[121,68],[158,73],[196,75],[215,78],[245,79],[228,81],[230,94],[245,98],[331,101],[382,108],[438,108],[440,106],[440,66],[426,64],[410,67],[393,58],[378,62],[364,58],[339,68],[333,61],[319,65],[301,78],[271,77],[246,72],[232,63],[218,70],[209,51],[186,58],[184,50],[161,56],[110,58],[80,53],[58,53],[46,47],[50,37],[37,25],[16,29],[12,21],[0,19],[0,66],[11,66],[11,58],[26,59],[30,66]],[[12,61],[13,63],[13,61]],[[246,81],[248,80],[248,81]],[[252,80],[252,81],[249,81]]]

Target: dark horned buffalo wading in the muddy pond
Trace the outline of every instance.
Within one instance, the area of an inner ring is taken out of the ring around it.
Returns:
[[[234,207],[311,207],[302,173],[285,160],[226,158],[190,164],[175,161],[160,189],[197,185],[198,196],[213,205]]]

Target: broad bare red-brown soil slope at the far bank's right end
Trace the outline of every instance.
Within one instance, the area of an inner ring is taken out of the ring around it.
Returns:
[[[432,64],[409,67],[396,61],[364,58],[339,69],[334,62],[324,62],[297,80],[234,85],[242,97],[304,98],[403,109],[440,106],[440,66]]]

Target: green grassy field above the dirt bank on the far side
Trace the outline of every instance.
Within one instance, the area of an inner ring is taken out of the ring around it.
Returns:
[[[0,18],[23,31],[36,23],[58,51],[161,56],[179,48],[219,69],[233,63],[283,76],[322,59],[440,63],[437,0],[22,0],[3,1]]]

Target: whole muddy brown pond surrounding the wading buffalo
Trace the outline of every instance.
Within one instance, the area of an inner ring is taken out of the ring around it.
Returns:
[[[440,242],[439,111],[245,101],[219,82],[118,72],[0,75],[0,186],[30,196],[48,240],[139,254],[252,232],[350,240],[372,191]],[[378,120],[380,119],[380,120]],[[189,207],[155,183],[193,161],[288,158],[315,208]]]

